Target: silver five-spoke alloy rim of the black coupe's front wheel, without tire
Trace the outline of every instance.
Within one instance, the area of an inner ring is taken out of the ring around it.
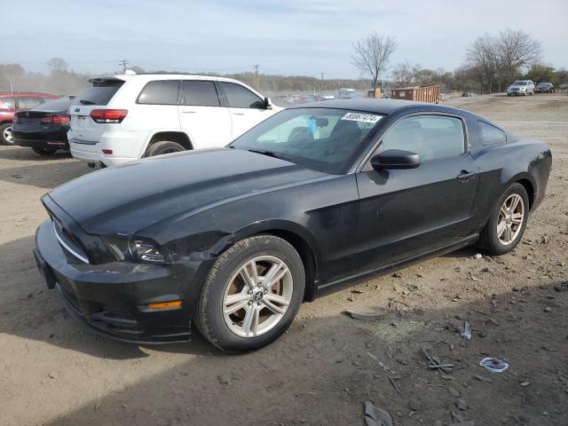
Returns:
[[[284,317],[293,291],[292,273],[283,260],[276,256],[248,260],[226,285],[226,326],[241,337],[264,335]]]

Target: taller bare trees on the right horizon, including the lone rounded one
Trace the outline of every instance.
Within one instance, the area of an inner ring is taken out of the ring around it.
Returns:
[[[395,37],[371,35],[353,43],[352,63],[368,75],[376,87],[440,84],[445,91],[501,92],[518,79],[535,83],[550,82],[555,86],[568,83],[568,71],[556,70],[541,63],[542,45],[522,30],[505,29],[497,35],[477,37],[465,52],[465,61],[453,72],[442,68],[422,68],[408,60],[390,67],[390,56],[398,49]],[[386,75],[386,71],[390,75]]]

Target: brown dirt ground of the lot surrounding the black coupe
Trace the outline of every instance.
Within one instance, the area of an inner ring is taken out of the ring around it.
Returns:
[[[551,146],[547,197],[523,242],[506,256],[464,249],[322,296],[279,341],[241,356],[197,334],[115,343],[68,318],[31,250],[47,216],[39,197],[90,169],[67,154],[0,147],[0,425],[363,425],[366,400],[396,425],[568,425],[568,291],[554,288],[568,279],[568,96],[447,103]],[[430,368],[422,348],[454,367]],[[486,371],[486,356],[509,369]]]

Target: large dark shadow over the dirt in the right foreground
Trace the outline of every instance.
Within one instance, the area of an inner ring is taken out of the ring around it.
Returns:
[[[451,309],[424,309],[419,299],[402,310],[376,306],[383,316],[372,321],[345,314],[296,319],[289,334],[262,350],[171,365],[43,424],[363,424],[365,400],[395,424],[454,424],[453,411],[475,424],[565,424],[565,398],[553,379],[568,373],[568,342],[548,327],[562,324],[564,314],[543,316],[540,302],[533,309],[535,293],[561,297],[550,287],[526,288]],[[511,298],[525,304],[510,304]],[[464,321],[471,340],[461,335]],[[538,339],[519,332],[535,329],[542,330]],[[430,368],[422,348],[454,367]],[[479,367],[488,355],[508,362],[509,370],[499,375]],[[532,390],[519,386],[527,377]],[[467,411],[455,408],[449,387],[467,401]]]

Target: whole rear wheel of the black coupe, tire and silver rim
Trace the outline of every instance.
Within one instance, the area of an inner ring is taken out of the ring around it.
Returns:
[[[490,255],[503,255],[517,247],[529,217],[525,186],[515,183],[493,207],[491,217],[479,235],[478,246]]]

